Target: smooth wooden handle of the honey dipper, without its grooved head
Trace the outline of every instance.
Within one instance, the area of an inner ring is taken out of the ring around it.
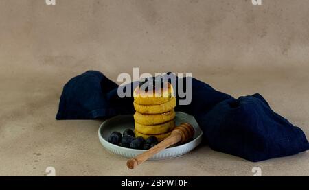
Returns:
[[[171,145],[174,145],[176,143],[179,143],[181,141],[181,134],[178,131],[173,131],[168,138],[161,141],[161,143],[155,145],[154,147],[150,148],[150,150],[139,154],[135,158],[131,158],[126,162],[126,166],[130,169],[134,169],[137,167],[137,165],[143,163],[144,161],[147,161],[148,158],[151,158],[153,155],[157,154],[161,150],[164,150],[167,147],[170,147]]]

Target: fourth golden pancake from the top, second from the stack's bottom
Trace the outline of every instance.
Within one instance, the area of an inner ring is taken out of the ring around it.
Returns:
[[[175,121],[174,119],[165,123],[161,123],[159,125],[154,125],[154,126],[146,126],[142,125],[140,123],[137,123],[135,121],[135,130],[142,134],[162,134],[165,132],[170,132],[175,128]]]

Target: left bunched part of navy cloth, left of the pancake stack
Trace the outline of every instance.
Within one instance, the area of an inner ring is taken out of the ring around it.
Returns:
[[[98,119],[134,111],[133,98],[119,98],[118,85],[99,71],[87,71],[65,84],[56,119]]]

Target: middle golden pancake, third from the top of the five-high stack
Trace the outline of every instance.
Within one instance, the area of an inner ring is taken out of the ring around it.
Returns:
[[[140,112],[135,112],[134,120],[142,125],[152,126],[160,123],[165,123],[174,119],[175,111],[170,110],[169,112],[163,112],[160,114],[141,114]]]

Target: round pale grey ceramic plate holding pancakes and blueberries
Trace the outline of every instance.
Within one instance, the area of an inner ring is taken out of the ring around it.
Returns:
[[[198,123],[192,115],[187,115],[184,112],[176,112],[175,117],[176,125],[178,126],[180,123],[190,123],[194,127],[194,138],[192,141],[187,142],[183,145],[179,145],[176,147],[169,147],[161,152],[158,152],[150,160],[161,160],[165,158],[174,158],[176,156],[181,156],[190,152],[195,147],[197,147],[202,141],[202,130],[198,127]],[[120,156],[124,156],[126,158],[133,158],[146,150],[136,150],[130,149],[126,147],[120,147],[117,145],[113,145],[112,143],[108,142],[108,136],[113,131],[124,132],[127,128],[134,129],[134,119],[133,115],[119,115],[113,117],[111,119],[107,119],[104,121],[99,128],[99,140],[103,147],[106,150],[113,152],[114,154],[118,154]]]

